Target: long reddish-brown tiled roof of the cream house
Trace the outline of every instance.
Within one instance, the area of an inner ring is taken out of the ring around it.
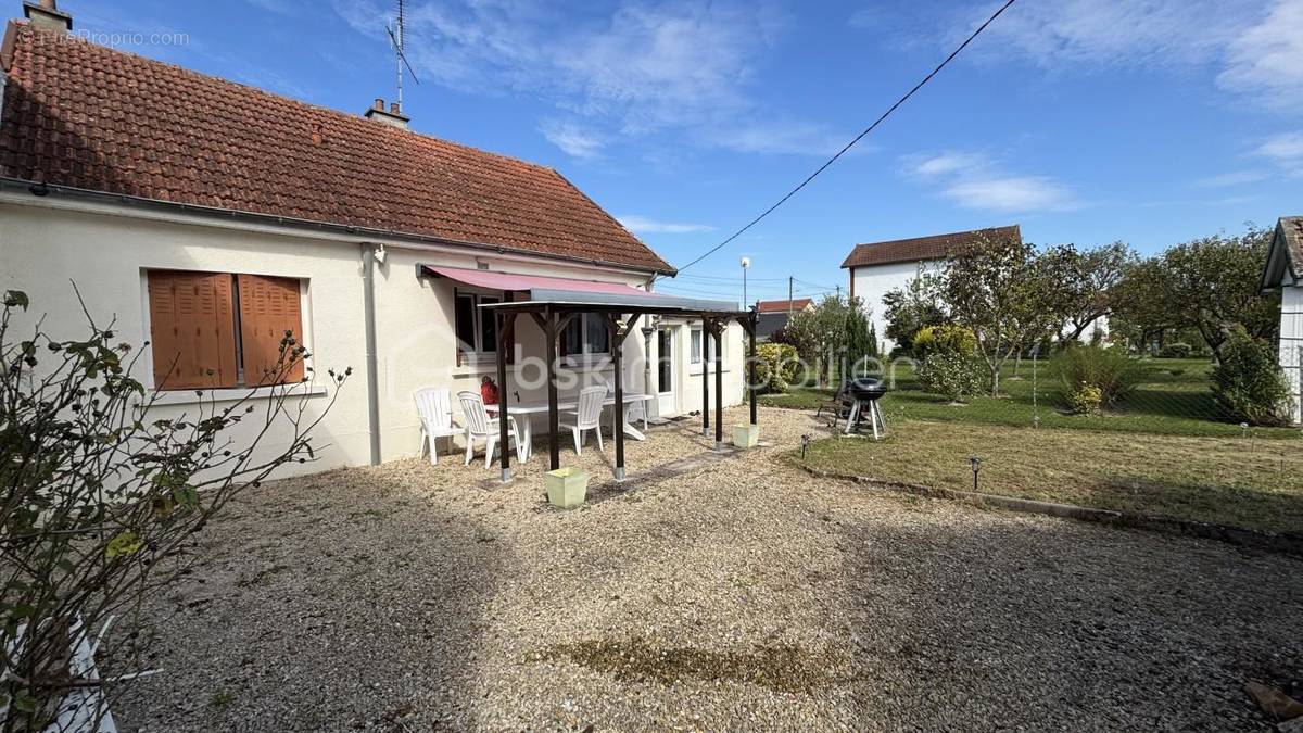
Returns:
[[[10,22],[0,176],[672,271],[556,171]]]

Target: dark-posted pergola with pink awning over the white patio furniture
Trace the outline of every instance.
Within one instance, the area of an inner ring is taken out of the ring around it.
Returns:
[[[466,284],[499,290],[509,293],[503,303],[482,304],[481,309],[493,313],[496,323],[498,348],[498,383],[502,385],[502,395],[511,394],[507,386],[507,350],[513,343],[515,327],[520,316],[529,316],[542,330],[547,361],[547,453],[550,470],[560,468],[560,451],[558,443],[558,394],[556,394],[556,361],[559,343],[566,326],[582,313],[601,316],[606,323],[611,340],[611,361],[614,366],[615,413],[618,416],[615,430],[615,477],[624,479],[624,370],[623,350],[624,340],[636,329],[640,318],[652,316],[676,316],[684,318],[700,318],[702,333],[709,334],[715,343],[715,353],[723,353],[723,335],[728,322],[737,321],[748,337],[748,398],[751,403],[751,423],[756,424],[756,312],[739,310],[735,304],[719,300],[698,300],[691,297],[675,297],[648,292],[619,283],[577,280],[567,278],[550,278],[541,275],[515,275],[507,273],[490,273],[487,270],[461,270],[453,267],[435,267],[418,265],[421,277],[447,277]],[[521,296],[517,299],[517,296]],[[710,364],[710,340],[702,338],[702,364]],[[718,359],[718,356],[717,356]],[[715,364],[715,447],[723,447],[723,372],[721,364]],[[650,385],[648,385],[650,389]],[[702,389],[702,434],[710,434],[710,376],[709,369],[701,370]],[[507,404],[498,410],[499,445],[502,445],[502,480],[511,480],[511,451],[508,442],[508,411]]]

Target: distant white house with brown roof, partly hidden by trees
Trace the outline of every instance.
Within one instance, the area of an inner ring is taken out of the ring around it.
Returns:
[[[1014,237],[1022,241],[1023,235],[1018,224],[1014,224],[855,245],[842,262],[842,269],[850,270],[851,297],[863,300],[870,313],[869,318],[878,334],[882,353],[890,353],[896,346],[885,337],[886,307],[882,304],[882,296],[904,287],[919,277],[921,270],[945,260],[949,252],[968,247],[984,237]]]

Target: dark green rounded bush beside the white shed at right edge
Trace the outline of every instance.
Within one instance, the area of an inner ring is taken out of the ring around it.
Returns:
[[[1237,327],[1222,344],[1212,377],[1213,396],[1229,416],[1253,425],[1286,423],[1290,385],[1270,343]]]

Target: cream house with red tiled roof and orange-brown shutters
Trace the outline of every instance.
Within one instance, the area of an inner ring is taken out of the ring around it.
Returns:
[[[308,417],[335,389],[326,368],[357,374],[318,428],[330,447],[304,468],[367,463],[373,436],[379,459],[414,455],[413,393],[456,394],[493,374],[494,322],[477,305],[513,296],[456,270],[644,290],[675,273],[551,168],[418,134],[379,100],[349,115],[96,46],[48,5],[27,5],[30,21],[10,22],[0,46],[0,290],[26,291],[30,318],[76,338],[86,333],[76,280],[122,340],[151,342],[137,377],[168,387],[159,417],[245,394],[293,330],[322,372],[292,376],[308,378],[294,386]],[[515,353],[542,355],[541,330],[517,323]],[[563,377],[609,377],[599,322],[569,329]],[[653,415],[700,410],[701,380],[689,378],[700,330],[663,318],[646,334],[625,342],[625,389],[654,390]],[[723,351],[724,400],[736,404],[737,325]],[[545,399],[538,374],[511,369],[507,394]]]

